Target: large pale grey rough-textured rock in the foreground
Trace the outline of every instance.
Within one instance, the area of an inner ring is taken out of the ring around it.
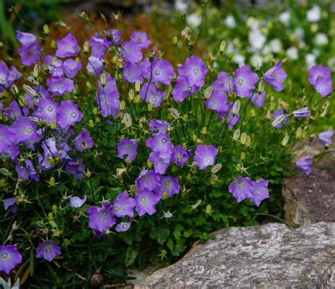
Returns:
[[[135,288],[335,288],[335,223],[218,230]]]

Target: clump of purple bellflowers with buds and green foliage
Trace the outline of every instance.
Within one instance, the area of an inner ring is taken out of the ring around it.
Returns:
[[[188,32],[182,35],[192,43]],[[6,187],[2,202],[13,218],[42,208],[28,225],[37,239],[28,242],[37,258],[49,262],[71,246],[72,238],[87,236],[87,227],[97,237],[92,242],[117,235],[131,243],[125,236],[137,222],[150,224],[158,215],[166,221],[182,218],[225,191],[237,203],[263,206],[273,174],[263,170],[269,168],[268,158],[278,161],[271,155],[279,151],[278,139],[283,138],[283,149],[294,146],[306,136],[307,122],[327,114],[329,106],[324,102],[320,113],[305,96],[295,105],[277,102],[290,74],[278,58],[261,73],[245,64],[214,67],[189,49],[175,66],[160,52],[144,52],[151,47],[146,33],[134,31],[125,41],[117,29],[95,33],[83,46],[69,33],[47,55],[35,35],[18,31],[17,38],[19,69],[0,61],[0,93],[6,97],[0,156],[8,167],[1,170],[6,176],[5,185],[0,183]],[[312,66],[308,81],[318,98],[332,93],[327,66]],[[269,140],[262,135],[266,131]],[[318,137],[329,146],[333,134]],[[262,141],[276,150],[267,150]],[[296,163],[307,174],[311,165],[310,156]],[[206,205],[202,211],[211,216],[211,204]],[[184,207],[178,211],[179,206]],[[213,220],[229,219],[223,208],[215,210],[221,211]],[[71,235],[69,216],[81,222],[81,233]],[[199,218],[197,225],[204,223]],[[8,241],[15,244],[12,235]],[[182,247],[180,232],[173,235],[176,245],[167,242],[171,251]],[[163,244],[167,237],[158,239]],[[19,252],[11,244],[0,245],[0,271],[6,274],[25,258],[24,248],[19,244]]]

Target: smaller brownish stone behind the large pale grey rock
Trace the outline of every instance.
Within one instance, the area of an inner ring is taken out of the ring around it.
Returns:
[[[285,219],[290,225],[300,226],[317,222],[335,222],[335,154],[334,146],[328,149],[312,167],[312,174],[283,179]],[[298,158],[324,152],[324,146],[315,139],[298,150]]]

